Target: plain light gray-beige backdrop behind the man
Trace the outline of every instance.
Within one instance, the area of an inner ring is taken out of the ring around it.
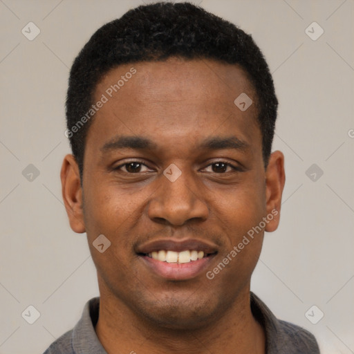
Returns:
[[[354,353],[354,1],[194,2],[252,33],[279,97],[281,225],[265,235],[252,290],[277,317],[313,332],[322,353]],[[0,0],[1,354],[41,353],[98,295],[86,236],[70,229],[59,182],[70,151],[68,70],[97,28],[141,3]],[[21,33],[30,21],[40,29],[32,41]],[[317,40],[306,33],[313,21],[324,30]],[[29,305],[40,313],[34,324],[21,317]],[[309,320],[317,308],[305,315],[313,305],[324,313],[317,324]]]

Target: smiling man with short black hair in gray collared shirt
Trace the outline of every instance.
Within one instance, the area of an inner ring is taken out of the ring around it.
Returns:
[[[100,298],[52,353],[319,353],[250,292],[279,224],[277,97],[245,32],[189,3],[130,10],[71,68],[62,165]]]

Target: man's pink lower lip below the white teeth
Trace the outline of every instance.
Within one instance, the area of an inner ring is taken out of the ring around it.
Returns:
[[[189,263],[167,263],[147,256],[140,256],[140,258],[153,272],[162,278],[170,280],[187,280],[195,278],[201,274],[201,272],[207,268],[207,265],[214,256],[215,254],[211,254],[202,259],[190,261]]]

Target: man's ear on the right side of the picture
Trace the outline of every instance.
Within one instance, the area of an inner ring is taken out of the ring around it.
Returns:
[[[281,151],[274,151],[265,170],[265,198],[267,215],[272,219],[265,226],[265,231],[277,230],[280,218],[281,196],[285,184],[284,156]]]

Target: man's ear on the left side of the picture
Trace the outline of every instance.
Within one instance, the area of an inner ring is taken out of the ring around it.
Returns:
[[[82,208],[82,187],[79,167],[71,154],[64,157],[60,179],[62,180],[62,196],[71,229],[82,234],[86,231]]]

